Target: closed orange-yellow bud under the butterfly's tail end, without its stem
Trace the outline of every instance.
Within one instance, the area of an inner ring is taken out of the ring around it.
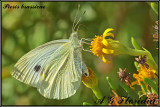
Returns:
[[[82,82],[88,88],[94,88],[98,85],[98,79],[91,68],[88,67],[89,76],[82,75]]]

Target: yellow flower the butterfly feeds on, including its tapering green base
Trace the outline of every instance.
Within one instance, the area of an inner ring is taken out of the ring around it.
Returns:
[[[104,31],[103,35],[97,36],[91,42],[90,50],[93,52],[94,55],[98,56],[103,60],[105,63],[110,63],[109,56],[110,55],[119,55],[119,54],[128,54],[132,56],[138,56],[144,54],[138,50],[138,52],[134,49],[128,48],[121,44],[119,41],[113,39],[106,39],[106,37],[114,38],[114,34],[110,33],[114,29],[108,28]]]

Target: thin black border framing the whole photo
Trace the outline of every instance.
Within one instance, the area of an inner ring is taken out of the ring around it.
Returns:
[[[1,29],[0,29],[0,32],[1,32],[1,35],[2,35],[2,2],[107,2],[107,1],[109,1],[109,2],[158,2],[159,3],[159,5],[160,5],[160,2],[159,2],[159,0],[1,0],[0,1],[0,13],[1,13],[1,15],[0,15],[0,23],[1,23]],[[159,6],[158,6],[158,13],[160,12],[159,11],[160,10],[160,8],[159,8]],[[159,23],[159,15],[158,15],[158,23]],[[160,25],[158,24],[158,27],[159,27],[159,30],[160,30]],[[160,35],[159,34],[159,30],[158,30],[158,35]],[[159,41],[160,41],[160,38],[158,38],[159,39]],[[2,39],[0,38],[0,41],[1,41]],[[160,44],[159,44],[159,41],[158,41],[158,46],[160,47]],[[0,46],[0,48],[1,48],[1,56],[2,56],[2,41],[1,41],[1,44],[0,44],[1,46]],[[158,48],[159,48],[158,47]],[[160,53],[160,50],[159,50],[159,53]],[[159,61],[160,61],[160,57],[159,57],[159,53],[158,53],[158,71],[159,71]],[[0,56],[0,59],[1,59],[1,56]],[[1,74],[2,74],[2,59],[1,59],[1,65],[0,65],[0,68],[1,68]],[[160,73],[160,71],[159,71],[159,73]],[[0,83],[1,83],[1,85],[0,85],[0,90],[1,90],[1,97],[0,97],[0,105],[3,107],[3,106],[24,106],[24,105],[2,105],[1,103],[2,103],[2,75],[0,74]],[[159,75],[159,74],[158,74]],[[160,75],[159,75],[159,78],[160,78]],[[159,80],[159,83],[160,83],[160,80]],[[158,86],[159,86],[159,83],[158,83]],[[159,90],[160,90],[160,87],[159,87]],[[159,90],[158,90],[158,93],[159,93]],[[160,96],[160,93],[159,93],[159,96]],[[159,98],[159,96],[158,96],[158,98]],[[160,105],[160,99],[159,99],[159,105]],[[57,105],[28,105],[28,106],[57,106]],[[68,105],[63,105],[63,106],[68,106]],[[74,105],[70,105],[70,106],[74,106]],[[75,105],[75,106],[81,106],[81,105]],[[82,105],[83,106],[83,105]],[[97,106],[97,105],[93,105],[93,106]],[[109,105],[105,105],[105,106],[109,106]],[[120,106],[122,106],[122,105],[120,105]],[[129,105],[127,105],[127,106],[129,106]],[[27,106],[24,106],[24,107],[27,107]],[[116,107],[116,106],[113,106],[113,107]],[[143,106],[141,106],[141,107],[143,107]],[[144,106],[145,107],[145,106]]]

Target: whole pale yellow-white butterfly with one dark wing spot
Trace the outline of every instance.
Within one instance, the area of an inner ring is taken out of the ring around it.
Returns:
[[[45,43],[22,56],[11,75],[36,87],[45,98],[68,98],[79,88],[81,76],[89,75],[82,48],[77,31],[72,29],[69,39]]]

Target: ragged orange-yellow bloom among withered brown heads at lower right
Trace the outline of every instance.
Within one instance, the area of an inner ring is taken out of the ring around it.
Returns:
[[[156,70],[151,68],[146,68],[145,66],[141,70],[137,70],[138,74],[133,74],[133,77],[136,81],[132,82],[132,85],[140,85],[140,81],[143,81],[143,78],[154,78]]]

